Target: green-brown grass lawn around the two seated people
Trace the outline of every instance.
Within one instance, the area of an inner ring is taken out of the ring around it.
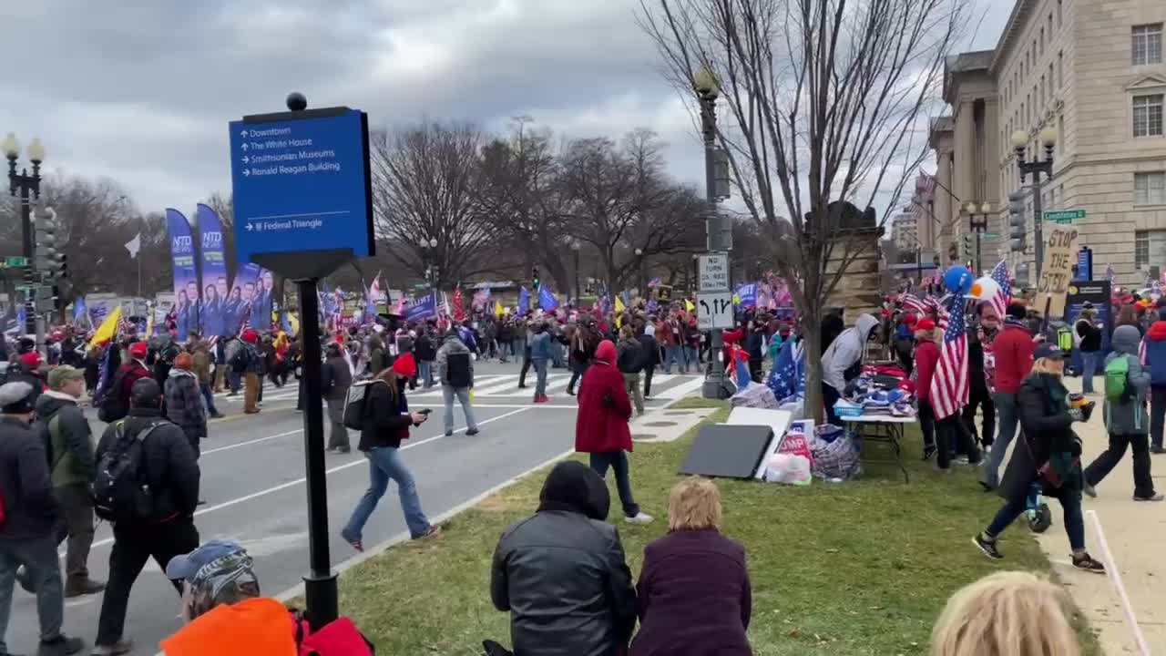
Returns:
[[[676,407],[689,403],[695,400]],[[718,410],[710,420],[726,412]],[[649,526],[619,522],[633,574],[644,545],[666,531],[668,489],[689,440],[637,445],[632,455],[637,501],[658,518]],[[874,451],[880,448],[872,446],[872,455],[881,455]],[[997,570],[1048,570],[1023,524],[1002,539],[1003,563],[976,551],[970,537],[999,500],[978,491],[970,470],[932,474],[919,453],[918,432],[908,434],[911,484],[893,465],[879,463],[865,465],[863,480],[841,484],[718,481],[724,532],[744,543],[749,556],[756,654],[926,654],[932,626],[957,588]],[[342,613],[380,654],[470,656],[482,654],[483,638],[508,644],[508,615],[490,602],[490,560],[503,530],[538,505],[542,480],[535,473],[458,515],[440,539],[399,545],[347,571],[340,579]],[[396,511],[395,503],[382,507]],[[1088,640],[1084,629],[1082,635]],[[1095,649],[1090,643],[1087,652]]]

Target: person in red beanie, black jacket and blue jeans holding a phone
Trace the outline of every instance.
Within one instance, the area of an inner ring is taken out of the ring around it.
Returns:
[[[357,551],[364,551],[363,532],[380,497],[388,489],[389,479],[396,481],[401,511],[413,539],[441,533],[441,526],[429,523],[423,510],[413,473],[401,459],[401,442],[409,439],[409,427],[416,427],[429,419],[429,410],[409,412],[405,398],[405,386],[415,371],[412,358],[398,358],[393,367],[385,369],[365,386],[364,427],[357,448],[368,460],[368,489],[352,510],[349,523],[340,537]]]

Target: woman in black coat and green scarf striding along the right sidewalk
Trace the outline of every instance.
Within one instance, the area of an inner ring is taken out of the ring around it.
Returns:
[[[1061,376],[1065,374],[1065,354],[1056,344],[1041,344],[1037,361],[1017,395],[1021,435],[1012,459],[1004,470],[997,493],[1004,507],[986,529],[971,542],[984,556],[1000,560],[1004,556],[996,547],[997,538],[1028,507],[1034,486],[1046,496],[1061,502],[1065,532],[1073,549],[1073,566],[1087,572],[1104,573],[1105,566],[1086,551],[1086,524],[1081,515],[1081,438],[1073,432],[1074,421],[1084,421],[1080,407],[1069,407],[1069,391]]]

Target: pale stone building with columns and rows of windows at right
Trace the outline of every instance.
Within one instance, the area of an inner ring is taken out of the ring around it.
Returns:
[[[992,50],[948,58],[948,114],[932,123],[936,183],[929,216],[936,253],[969,228],[968,202],[991,204],[985,268],[1005,257],[1033,266],[1028,249],[1009,246],[1007,195],[1021,187],[1012,134],[1028,134],[1027,158],[1045,158],[1039,133],[1055,128],[1053,177],[1042,176],[1045,211],[1084,210],[1074,222],[1094,251],[1094,278],[1112,265],[1117,284],[1166,272],[1166,0],[1017,0]],[[1031,183],[1028,177],[1026,183]],[[923,230],[915,230],[923,233]]]

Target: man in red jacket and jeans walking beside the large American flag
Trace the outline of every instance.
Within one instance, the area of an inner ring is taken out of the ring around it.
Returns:
[[[984,476],[979,482],[985,490],[996,489],[1000,484],[1000,463],[1004,461],[1009,444],[1017,434],[1019,420],[1017,392],[1020,391],[1020,383],[1032,370],[1033,344],[1032,335],[1024,323],[1026,314],[1024,305],[1011,303],[1004,319],[1004,328],[992,342],[992,355],[996,356],[996,392],[992,395],[992,400],[996,403],[999,431],[996,441],[992,442],[988,463],[984,465]]]

